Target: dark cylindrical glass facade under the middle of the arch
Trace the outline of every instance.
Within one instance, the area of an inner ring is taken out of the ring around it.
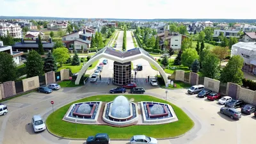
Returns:
[[[113,84],[126,85],[131,83],[131,61],[127,63],[114,62]]]

